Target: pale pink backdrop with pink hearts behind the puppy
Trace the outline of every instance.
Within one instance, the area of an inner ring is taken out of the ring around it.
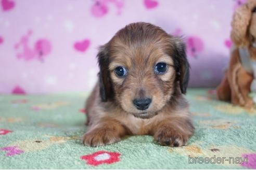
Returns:
[[[0,93],[91,90],[97,47],[131,22],[186,38],[190,87],[214,87],[228,61],[234,0],[0,0]]]

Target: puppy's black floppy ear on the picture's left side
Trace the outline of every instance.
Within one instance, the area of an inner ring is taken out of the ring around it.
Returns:
[[[97,54],[99,64],[99,93],[102,102],[107,102],[113,94],[109,74],[109,56],[107,45],[101,46]]]

